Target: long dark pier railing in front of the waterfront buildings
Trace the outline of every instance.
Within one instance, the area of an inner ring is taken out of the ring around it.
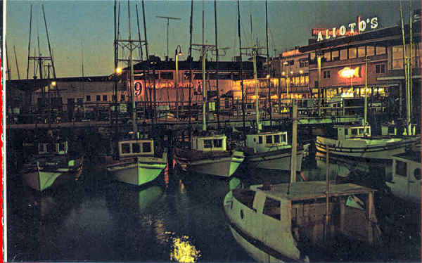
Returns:
[[[363,98],[343,98],[343,99],[321,99],[318,103],[317,98],[297,99],[299,117],[342,117],[342,116],[360,116],[364,115]],[[279,104],[278,99],[271,101],[273,118],[283,118],[291,116],[292,100],[283,98]],[[263,119],[269,118],[269,107],[260,101],[260,115]],[[151,105],[152,104],[152,105]],[[179,102],[176,108],[174,101],[160,101],[156,103],[136,102],[136,116],[138,120],[179,120],[187,121],[201,120],[203,111],[203,101],[191,101],[189,110],[188,102]],[[252,103],[248,103],[252,105]],[[383,101],[369,101],[368,113],[385,113],[388,108]],[[115,103],[84,103],[84,105],[75,105],[72,108],[63,105],[61,108],[48,110],[37,110],[32,107],[29,113],[18,113],[19,110],[8,110],[6,114],[7,124],[37,124],[37,123],[60,123],[60,122],[113,122],[127,123],[132,120],[131,103],[117,103],[117,113]],[[212,113],[217,114],[216,110]],[[191,115],[189,115],[189,113]],[[226,99],[220,101],[219,115],[222,120],[235,120],[242,116],[241,101]],[[255,105],[246,107],[245,115],[250,118],[255,116]],[[208,115],[210,116],[210,115]]]

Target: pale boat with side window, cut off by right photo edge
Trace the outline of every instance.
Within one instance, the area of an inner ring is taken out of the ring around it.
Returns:
[[[421,203],[421,152],[393,155],[392,177],[386,180],[386,184],[397,197]]]

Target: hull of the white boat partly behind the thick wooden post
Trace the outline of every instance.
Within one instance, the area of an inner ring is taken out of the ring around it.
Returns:
[[[305,149],[298,149],[296,171],[302,171],[302,160],[305,155]],[[291,167],[291,148],[285,150],[274,150],[266,153],[256,153],[246,155],[245,160],[248,168],[276,169],[290,171]]]

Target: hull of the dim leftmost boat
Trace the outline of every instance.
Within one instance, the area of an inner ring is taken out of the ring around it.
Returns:
[[[52,167],[34,164],[23,172],[23,181],[30,188],[37,191],[44,191],[46,188],[53,188],[75,181],[82,174],[83,158],[75,160],[76,165],[72,167]]]

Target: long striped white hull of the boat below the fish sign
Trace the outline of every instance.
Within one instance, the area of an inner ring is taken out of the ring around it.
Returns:
[[[417,136],[402,139],[349,139],[345,141],[316,136],[316,151],[357,160],[392,160],[392,155],[404,153],[406,148],[418,143]]]

